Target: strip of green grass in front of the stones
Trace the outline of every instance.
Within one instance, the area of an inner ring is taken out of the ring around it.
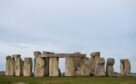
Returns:
[[[0,84],[136,84],[136,77],[0,77]]]

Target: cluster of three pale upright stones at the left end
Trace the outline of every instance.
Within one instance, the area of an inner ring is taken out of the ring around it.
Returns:
[[[6,76],[31,76],[32,75],[32,59],[21,59],[21,55],[14,54],[6,57]]]

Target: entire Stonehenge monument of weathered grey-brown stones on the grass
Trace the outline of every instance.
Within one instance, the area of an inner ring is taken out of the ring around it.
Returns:
[[[114,73],[114,58],[105,59],[100,52],[92,52],[91,57],[80,52],[53,53],[35,51],[34,62],[30,57],[24,60],[20,54],[6,57],[6,76],[116,76]],[[65,58],[65,72],[61,75],[59,58]],[[120,76],[130,76],[131,64],[129,59],[120,60]]]

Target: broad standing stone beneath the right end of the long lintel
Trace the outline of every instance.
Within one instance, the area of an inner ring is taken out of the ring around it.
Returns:
[[[89,58],[82,58],[80,66],[80,76],[89,76],[90,75],[90,61]]]

